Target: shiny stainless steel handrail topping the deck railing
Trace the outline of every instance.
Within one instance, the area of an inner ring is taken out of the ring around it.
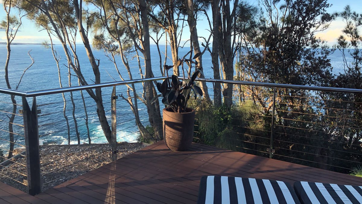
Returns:
[[[19,91],[19,90],[13,90],[13,89],[0,88],[0,93],[9,94],[9,95],[17,95],[17,96],[22,96],[22,97],[36,97],[36,96],[40,96],[40,95],[50,95],[50,94],[65,93],[65,92],[70,92],[70,91],[79,91],[79,90],[95,89],[95,88],[102,88],[102,87],[109,87],[109,86],[125,85],[125,84],[130,84],[130,83],[140,83],[140,82],[163,80],[166,78],[167,77],[132,79],[132,80],[126,80],[126,81],[115,81],[115,82],[108,82],[108,83],[63,87],[63,88],[57,88],[57,89],[47,89],[47,90],[38,90],[38,91]],[[305,85],[293,85],[293,84],[283,84],[283,83],[264,83],[264,82],[249,82],[249,81],[232,81],[232,80],[206,79],[206,78],[197,78],[195,81],[362,94],[362,89],[346,89],[346,88],[337,88],[337,87],[305,86]]]

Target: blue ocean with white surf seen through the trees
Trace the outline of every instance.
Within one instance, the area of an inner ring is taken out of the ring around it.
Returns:
[[[30,54],[34,58],[34,65],[26,71],[24,77],[19,86],[19,90],[23,91],[33,91],[33,90],[45,90],[45,89],[54,89],[59,88],[59,78],[58,78],[58,68],[56,67],[55,60],[52,56],[51,50],[44,48],[42,45],[12,45],[11,58],[9,63],[9,80],[12,88],[14,88],[24,72],[24,69],[31,64],[31,60],[28,56],[28,52],[31,50]],[[59,56],[62,56],[60,60],[61,65],[61,79],[63,87],[68,86],[68,68],[67,61],[64,57],[64,51],[62,46],[55,45],[55,49],[58,51]],[[160,45],[161,52],[165,52],[165,45]],[[171,48],[168,47],[168,56],[171,57]],[[179,56],[182,57],[189,52],[189,48],[185,47],[180,48]],[[101,72],[101,82],[112,82],[112,81],[121,81],[117,70],[115,69],[114,63],[110,61],[108,57],[105,56],[104,51],[102,50],[93,50],[94,56],[100,60],[100,72]],[[161,54],[163,54],[161,53]],[[85,52],[84,46],[77,45],[77,54],[81,64],[81,70],[84,74],[84,78],[89,84],[94,83],[93,70],[89,64],[87,54]],[[6,60],[6,45],[0,45],[0,87],[6,88],[5,78],[4,78],[4,65]],[[163,55],[164,56],[164,55]],[[136,58],[133,58],[134,54],[129,56],[129,64],[131,67],[131,73],[133,79],[141,78],[139,74],[139,67]],[[152,70],[154,76],[161,76],[160,73],[160,59],[157,51],[156,45],[151,45],[151,61],[152,61]],[[344,72],[342,54],[340,51],[336,50],[333,54],[329,56],[331,64],[333,66],[333,73],[338,74]],[[140,58],[141,65],[143,64],[143,59]],[[349,60],[349,58],[347,58]],[[164,57],[162,58],[162,64],[164,62]],[[122,77],[127,80],[129,79],[128,73],[121,61],[120,56],[116,56],[116,63],[119,68],[119,71]],[[168,65],[172,65],[172,61],[167,59]],[[211,56],[207,51],[203,54],[203,69],[205,78],[213,78],[213,71],[211,69]],[[142,67],[144,73],[144,67]],[[172,70],[170,70],[170,74]],[[93,80],[93,81],[92,81]],[[78,86],[78,82],[75,76],[71,76],[72,86]],[[138,93],[142,93],[142,85],[135,84],[136,90]],[[127,97],[127,88],[126,86],[117,86],[117,93],[122,94]],[[103,102],[105,106],[106,114],[110,122],[110,94],[112,87],[102,88]],[[104,137],[101,126],[98,122],[98,117],[96,113],[96,106],[92,98],[89,97],[86,91],[83,92],[85,103],[87,105],[88,112],[88,125],[90,130],[90,138],[92,143],[106,143],[107,140]],[[65,93],[67,99],[67,108],[66,115],[68,121],[70,122],[70,136],[71,144],[77,143],[77,137],[75,132],[74,120],[72,117],[72,103],[70,100],[70,93]],[[81,143],[88,143],[88,134],[87,128],[85,125],[85,112],[83,106],[83,100],[81,98],[80,92],[73,92],[73,98],[75,102],[75,116],[76,121],[79,126],[79,133],[81,138]],[[21,97],[16,97],[17,104],[21,105]],[[31,99],[28,98],[28,102],[31,105]],[[41,110],[39,114],[38,123],[39,123],[39,135],[40,139],[44,143],[56,143],[56,144],[68,144],[68,129],[66,121],[63,117],[63,98],[62,94],[52,94],[46,96],[37,97],[38,109]],[[21,106],[18,106],[18,110],[22,109]],[[138,110],[140,119],[143,122],[144,126],[149,125],[148,115],[146,106],[138,100]],[[7,150],[9,143],[5,140],[9,140],[8,132],[8,116],[12,111],[12,104],[10,101],[10,95],[0,94],[0,148]],[[17,113],[18,114],[18,113]],[[21,115],[16,115],[14,123],[22,125]],[[14,125],[14,132],[16,143],[24,143],[24,131],[19,125]],[[118,97],[117,99],[117,141],[118,142],[136,142],[139,137],[138,128],[134,122],[134,115],[130,109],[129,104]],[[18,146],[16,146],[18,147]]]

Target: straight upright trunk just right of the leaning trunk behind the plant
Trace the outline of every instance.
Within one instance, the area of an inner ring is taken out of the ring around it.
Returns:
[[[219,40],[220,40],[220,0],[212,0],[212,53],[211,61],[214,70],[214,79],[220,79],[219,68]],[[216,107],[221,106],[221,83],[214,83],[214,105]]]

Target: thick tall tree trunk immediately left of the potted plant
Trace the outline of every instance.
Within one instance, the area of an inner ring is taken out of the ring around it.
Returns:
[[[143,56],[145,64],[145,78],[153,77],[152,66],[151,66],[151,50],[150,50],[150,31],[148,28],[148,18],[147,18],[147,4],[145,0],[139,0],[139,8],[141,13],[142,20],[142,30],[143,30]],[[155,138],[161,140],[163,138],[162,130],[162,120],[160,109],[156,109],[155,104],[151,103],[152,98],[154,97],[153,82],[146,82],[146,104],[147,112],[149,116],[150,123],[155,131]]]

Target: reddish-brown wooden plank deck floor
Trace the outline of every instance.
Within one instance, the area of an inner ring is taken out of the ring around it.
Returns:
[[[355,176],[197,143],[174,152],[161,141],[37,196],[1,184],[0,203],[192,204],[203,175],[362,185]]]

